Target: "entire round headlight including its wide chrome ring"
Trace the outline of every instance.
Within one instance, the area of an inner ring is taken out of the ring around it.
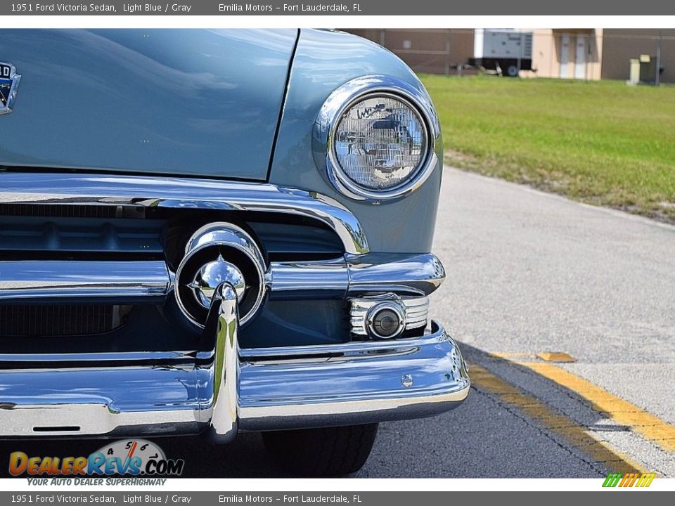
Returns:
[[[418,188],[441,149],[435,109],[421,86],[387,76],[352,79],[316,119],[315,156],[343,195],[387,200]],[[322,152],[323,151],[323,155]]]

